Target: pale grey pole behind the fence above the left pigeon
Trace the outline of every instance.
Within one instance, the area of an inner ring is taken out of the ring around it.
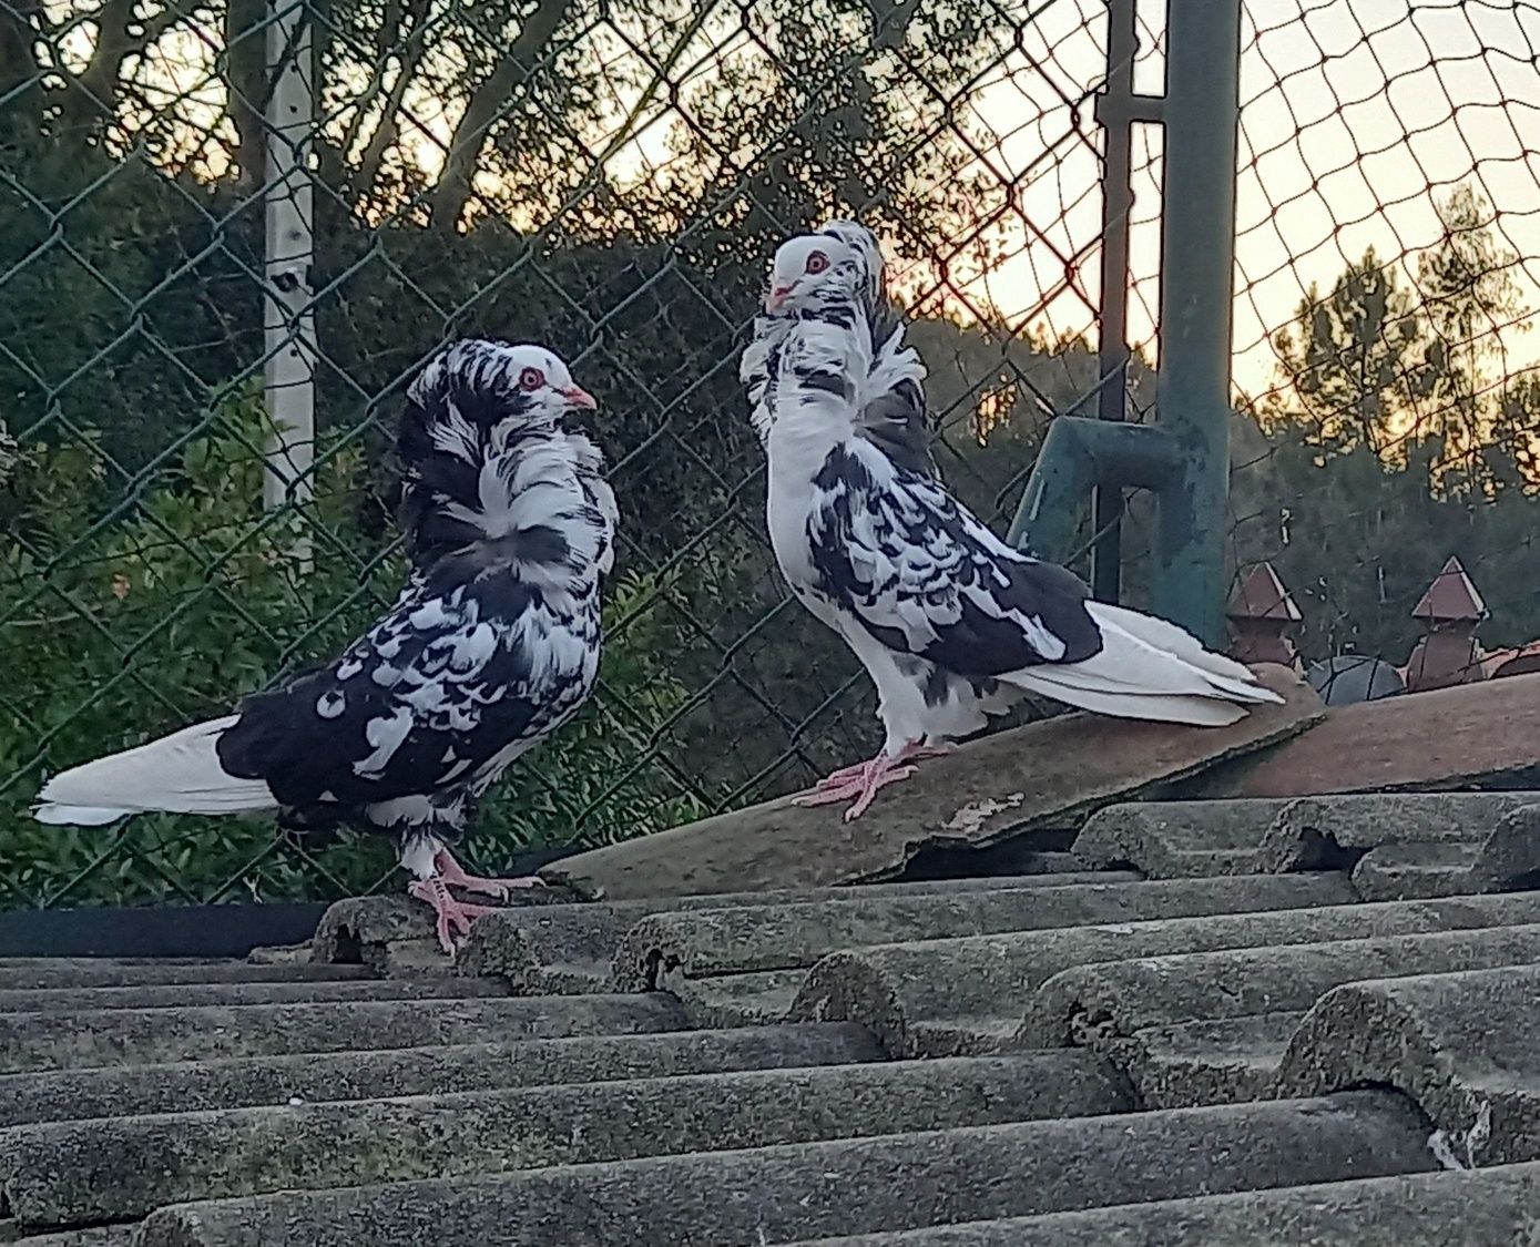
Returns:
[[[268,8],[263,383],[279,426],[262,482],[266,506],[306,502],[316,454],[316,317],[311,311],[314,74],[305,0]]]

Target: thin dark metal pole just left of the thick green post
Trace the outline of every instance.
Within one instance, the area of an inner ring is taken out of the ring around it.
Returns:
[[[1129,212],[1133,208],[1130,125],[1133,102],[1133,0],[1107,5],[1107,83],[1096,97],[1106,142],[1101,174],[1101,316],[1096,346],[1096,417],[1121,420],[1129,365]],[[1116,602],[1123,571],[1123,485],[1100,482],[1092,493],[1090,591]]]

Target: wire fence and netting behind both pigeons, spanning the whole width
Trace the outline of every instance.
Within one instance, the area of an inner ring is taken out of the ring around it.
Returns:
[[[1540,633],[1515,527],[1540,5],[1412,3],[1383,29],[1349,0],[1287,8],[1252,0],[1241,28],[1234,557],[1275,562],[1309,657],[1406,648],[1446,553],[1508,573],[1505,640],[1526,611]],[[28,804],[394,594],[382,450],[459,334],[567,356],[624,523],[601,693],[500,785],[473,858],[656,830],[870,748],[865,680],[764,534],[736,353],[765,260],[833,212],[873,225],[942,471],[1004,530],[1052,417],[1153,413],[1155,9],[0,0],[0,905],[390,874],[382,844],[45,828]],[[268,413],[314,428],[279,505]],[[1138,602],[1138,497],[1123,530]]]

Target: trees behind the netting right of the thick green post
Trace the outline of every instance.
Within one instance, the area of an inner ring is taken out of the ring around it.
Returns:
[[[1278,386],[1243,419],[1232,471],[1238,563],[1270,559],[1311,657],[1404,660],[1414,603],[1458,554],[1488,594],[1488,644],[1540,634],[1532,574],[1540,379],[1505,376],[1515,257],[1483,200],[1437,205],[1412,291],[1374,252],[1275,336]]]

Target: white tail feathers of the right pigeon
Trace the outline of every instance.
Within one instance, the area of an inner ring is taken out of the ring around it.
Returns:
[[[1190,633],[1123,607],[1087,602],[1103,648],[1084,662],[1013,671],[1001,679],[1096,714],[1223,727],[1244,705],[1281,702],[1252,671],[1204,650]]]

